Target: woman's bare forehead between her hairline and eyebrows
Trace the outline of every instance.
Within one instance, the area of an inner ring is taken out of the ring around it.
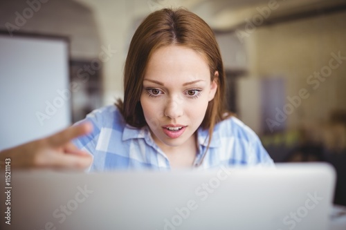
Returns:
[[[204,55],[185,46],[163,46],[155,50],[145,71],[148,77],[189,76],[190,80],[210,77],[208,61]]]

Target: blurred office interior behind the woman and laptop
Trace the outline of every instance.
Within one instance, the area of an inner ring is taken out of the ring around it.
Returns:
[[[335,202],[346,205],[344,0],[1,1],[0,149],[52,133],[122,97],[125,58],[139,23],[154,10],[179,6],[215,31],[229,110],[253,128],[275,162],[333,164]],[[49,46],[36,46],[35,39]],[[37,61],[24,68],[18,57]],[[48,69],[39,78],[29,67],[37,73]],[[16,78],[14,70],[24,72]],[[48,75],[52,79],[43,83]],[[59,76],[62,81],[52,83]],[[40,92],[48,84],[53,88]],[[37,107],[27,112],[17,102]],[[42,132],[19,139],[27,124]]]

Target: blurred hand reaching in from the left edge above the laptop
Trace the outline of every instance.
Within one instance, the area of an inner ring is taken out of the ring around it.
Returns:
[[[49,137],[8,148],[0,152],[0,164],[11,158],[13,169],[85,169],[90,166],[92,157],[80,151],[71,140],[90,133],[92,128],[90,123],[71,126]]]

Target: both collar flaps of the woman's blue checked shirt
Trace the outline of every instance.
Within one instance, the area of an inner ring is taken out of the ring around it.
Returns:
[[[208,146],[208,141],[209,141],[208,135],[209,135],[208,129],[203,129],[201,127],[197,129],[197,140],[199,145]],[[130,140],[130,139],[140,139],[140,138],[146,139],[146,137],[149,137],[149,136],[150,136],[150,132],[147,126],[144,126],[142,128],[136,128],[127,124],[122,133],[122,141]],[[152,138],[149,138],[149,139],[152,140]],[[215,127],[209,147],[216,148],[217,146],[220,146],[220,135],[219,135],[218,128]]]

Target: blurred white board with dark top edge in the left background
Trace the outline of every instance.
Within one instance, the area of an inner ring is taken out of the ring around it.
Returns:
[[[0,35],[0,150],[71,124],[69,41]]]

